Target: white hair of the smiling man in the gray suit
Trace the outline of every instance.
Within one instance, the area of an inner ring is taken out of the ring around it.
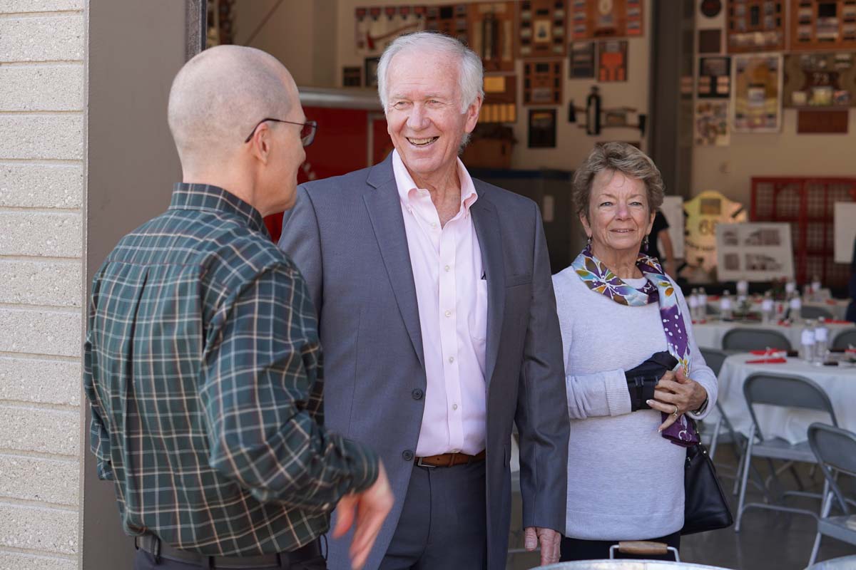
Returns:
[[[460,40],[447,36],[440,32],[413,32],[395,38],[389,44],[380,62],[377,62],[377,94],[383,105],[383,113],[386,113],[386,105],[389,100],[387,93],[387,74],[389,73],[389,62],[405,50],[419,50],[421,52],[431,51],[444,55],[455,56],[460,62],[458,74],[458,89],[461,91],[461,113],[466,113],[467,108],[473,104],[477,97],[484,99],[482,83],[484,80],[484,69],[481,58],[470,50]]]

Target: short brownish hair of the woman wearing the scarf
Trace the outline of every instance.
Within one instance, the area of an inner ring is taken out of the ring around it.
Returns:
[[[574,200],[574,210],[579,216],[589,217],[589,199],[591,197],[591,183],[595,176],[602,172],[620,172],[628,178],[642,180],[648,194],[648,209],[655,212],[663,205],[663,176],[660,169],[641,150],[633,144],[610,142],[594,145],[591,154],[586,158],[574,173],[573,190],[571,196]]]

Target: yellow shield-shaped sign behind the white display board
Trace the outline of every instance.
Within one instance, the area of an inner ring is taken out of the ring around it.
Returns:
[[[710,272],[716,267],[716,226],[746,221],[743,204],[715,190],[705,190],[684,203],[684,259],[690,267]]]

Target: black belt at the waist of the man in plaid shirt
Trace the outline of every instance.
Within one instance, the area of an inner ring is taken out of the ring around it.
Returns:
[[[134,546],[146,550],[156,558],[167,558],[207,568],[288,568],[291,564],[310,561],[321,555],[321,543],[318,538],[292,552],[257,556],[206,556],[199,554],[199,552],[175,549],[153,534],[144,534],[134,538]]]

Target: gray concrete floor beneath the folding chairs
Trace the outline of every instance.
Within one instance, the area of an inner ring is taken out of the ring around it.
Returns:
[[[721,445],[716,451],[716,464],[722,478],[722,485],[732,499],[732,513],[736,517],[737,497],[730,496],[734,479],[728,478],[728,473],[734,473],[734,463],[731,446]],[[764,467],[766,467],[764,463],[758,463],[758,468],[766,474]],[[811,491],[822,489],[823,478],[820,473],[816,473],[811,478],[808,469],[801,467],[799,473],[804,484],[811,486]],[[790,478],[788,473],[784,473],[782,485],[794,488],[794,479]],[[746,492],[746,502],[762,502],[763,496],[760,491],[752,485],[749,489],[750,491]],[[848,496],[853,497],[853,493],[849,493]],[[819,500],[797,498],[788,504],[816,508],[818,512],[820,510]],[[512,520],[520,520],[519,505],[515,505]],[[732,526],[721,531],[702,532],[683,538],[681,561],[739,570],[802,570],[808,564],[816,530],[817,523],[811,516],[753,508],[744,514],[740,533],[734,532],[734,526]],[[513,545],[519,535],[520,532],[512,532]],[[834,538],[823,538],[817,561],[847,555],[856,555],[856,546]],[[538,555],[533,553],[509,555],[508,570],[536,567],[538,561]]]

